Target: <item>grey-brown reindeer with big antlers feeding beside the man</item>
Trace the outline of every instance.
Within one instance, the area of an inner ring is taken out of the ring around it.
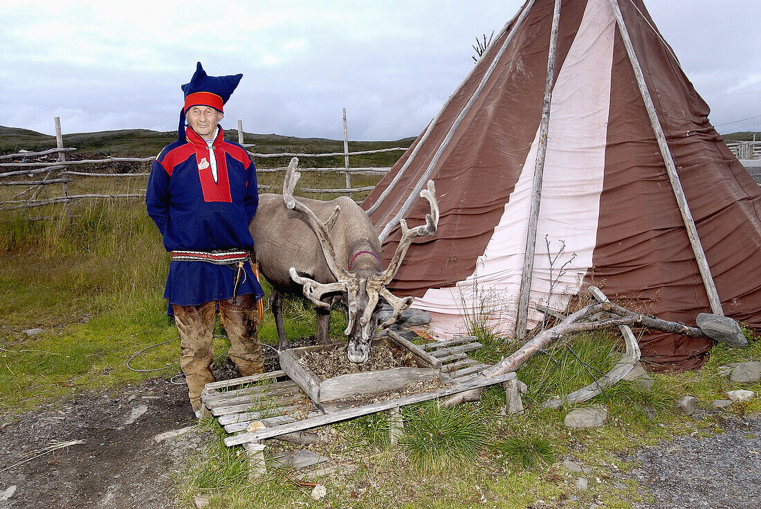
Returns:
[[[297,166],[294,157],[288,164],[282,196],[260,195],[259,208],[249,225],[256,262],[272,284],[269,306],[275,315],[279,349],[288,345],[282,296],[303,293],[317,308],[317,339],[321,344],[328,342],[331,305],[339,300],[345,304],[349,361],[366,362],[380,297],[393,307],[392,316],[380,329],[399,320],[412,304],[412,297],[396,297],[386,285],[396,275],[412,240],[436,231],[438,204],[433,181],[420,192],[431,205],[425,224],[408,228],[406,221],[400,221],[402,239],[384,270],[380,266],[380,241],[367,213],[348,196],[330,202],[295,198],[293,191],[301,177]]]

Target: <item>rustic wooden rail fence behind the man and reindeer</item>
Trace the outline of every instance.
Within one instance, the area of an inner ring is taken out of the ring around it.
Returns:
[[[0,155],[0,187],[2,186],[21,186],[23,189],[20,192],[5,192],[0,196],[0,211],[19,209],[19,208],[33,208],[41,207],[44,205],[53,204],[71,204],[78,199],[129,199],[129,198],[142,198],[145,196],[145,187],[139,189],[139,193],[124,192],[124,193],[86,193],[75,194],[69,192],[69,184],[74,179],[88,178],[88,177],[103,177],[103,178],[135,178],[142,177],[147,180],[150,173],[105,173],[103,171],[97,171],[98,167],[111,164],[114,162],[141,162],[148,163],[155,159],[155,157],[104,157],[102,159],[84,159],[80,161],[67,161],[66,153],[75,151],[76,148],[66,148],[63,146],[63,137],[61,134],[61,122],[59,117],[55,118],[56,124],[56,148],[51,148],[46,151],[39,152],[19,152],[17,154]],[[238,120],[238,143],[246,148],[250,148],[253,145],[244,145],[243,143],[243,121]],[[381,148],[378,150],[368,151],[355,151],[349,152],[349,140],[347,138],[346,130],[346,110],[343,110],[343,132],[344,150],[342,152],[333,152],[327,154],[296,154],[296,153],[279,153],[279,154],[257,154],[249,151],[254,161],[256,159],[266,159],[270,157],[344,157],[344,167],[307,167],[300,168],[302,172],[320,172],[320,173],[343,173],[345,175],[345,187],[338,187],[332,189],[322,188],[300,188],[301,192],[316,192],[327,194],[340,194],[352,196],[358,192],[368,192],[373,189],[374,186],[362,186],[352,187],[352,174],[375,174],[383,175],[387,173],[390,168],[388,167],[351,167],[349,164],[349,157],[363,155],[363,154],[380,154],[383,152],[391,151],[405,151],[404,147],[395,148]],[[40,158],[49,157],[51,154],[58,154],[56,161],[40,161]],[[9,161],[9,162],[5,162]],[[88,171],[76,171],[73,167],[78,165],[89,165]],[[11,170],[11,168],[13,168]],[[94,171],[89,169],[94,168]],[[8,170],[6,170],[8,169]],[[256,173],[275,173],[285,171],[285,167],[275,168],[263,168],[257,169]],[[40,198],[40,192],[45,189],[46,186],[61,186],[61,194],[59,196]],[[260,184],[259,189],[266,191],[272,186]]]

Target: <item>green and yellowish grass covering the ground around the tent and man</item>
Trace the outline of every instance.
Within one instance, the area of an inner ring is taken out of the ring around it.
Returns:
[[[340,185],[342,176],[333,177]],[[310,178],[305,176],[302,185],[313,185]],[[108,192],[110,186],[117,184],[72,183],[73,191]],[[118,186],[140,192],[145,180],[131,177]],[[71,215],[53,207],[35,213],[50,219],[28,221],[22,212],[0,213],[0,412],[12,418],[43,403],[61,403],[88,391],[103,393],[146,377],[179,373],[176,342],[151,348],[132,362],[135,368],[160,371],[145,373],[126,366],[136,352],[177,336],[161,297],[169,259],[142,200],[77,202]],[[290,337],[315,333],[314,311],[300,300],[289,299],[285,314]],[[333,338],[339,339],[343,325],[342,317],[335,315]],[[27,336],[24,331],[33,328],[43,332]],[[486,345],[479,354],[484,361],[495,361],[519,346],[477,324],[474,328]],[[728,390],[761,392],[761,383],[732,383],[718,374],[721,364],[761,359],[761,341],[750,332],[747,335],[750,348],[717,346],[702,369],[654,375],[651,390],[635,383],[606,390],[593,400],[609,412],[602,428],[569,430],[562,422],[568,409],[543,409],[541,402],[578,389],[616,362],[622,347],[616,336],[607,334],[578,336],[524,365],[518,377],[529,391],[524,395],[527,410],[520,416],[502,414],[505,393],[492,387],[481,402],[456,409],[430,402],[407,407],[405,435],[393,449],[384,414],[321,429],[314,450],[350,470],[319,479],[328,492],[321,501],[310,498],[310,488],[292,481],[295,472],[272,469],[259,482],[250,482],[244,450],[224,447],[224,431],[204,421],[202,427],[216,438],[175,479],[178,504],[194,507],[194,496],[208,494],[209,507],[241,509],[539,509],[586,508],[592,503],[632,507],[640,495],[635,482],[619,475],[633,467],[620,459],[621,451],[679,434],[712,434],[721,419],[761,413],[759,398],[723,411],[712,409],[711,404]],[[276,343],[269,313],[260,338]],[[218,342],[220,351],[224,350],[224,339]],[[675,402],[684,394],[700,399],[700,418],[676,411]],[[584,474],[590,479],[588,490],[573,488],[582,474],[559,465],[567,457],[591,469]]]

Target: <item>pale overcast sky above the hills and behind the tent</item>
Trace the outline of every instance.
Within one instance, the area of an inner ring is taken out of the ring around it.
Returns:
[[[226,128],[341,139],[345,107],[350,139],[416,136],[470,71],[474,38],[522,4],[2,0],[0,125],[174,130],[200,60],[244,75]],[[761,131],[761,2],[646,5],[718,131]]]

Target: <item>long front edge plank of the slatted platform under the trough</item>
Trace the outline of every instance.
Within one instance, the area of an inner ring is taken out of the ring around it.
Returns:
[[[269,428],[253,433],[241,433],[232,437],[224,439],[224,445],[230,447],[233,445],[247,444],[250,442],[261,441],[266,438],[277,437],[281,434],[293,433],[295,431],[304,431],[305,429],[317,428],[333,422],[341,422],[347,419],[360,417],[361,415],[368,415],[375,412],[381,412],[383,410],[393,409],[395,407],[412,405],[412,403],[418,403],[422,401],[428,401],[429,399],[441,398],[444,396],[450,396],[451,394],[462,393],[466,390],[479,389],[481,387],[488,387],[495,383],[502,383],[508,380],[512,380],[515,377],[514,373],[507,373],[498,375],[496,377],[479,377],[470,383],[463,383],[456,387],[447,387],[432,391],[430,393],[413,394],[412,396],[404,396],[403,398],[392,399],[390,401],[377,402],[372,405],[361,406],[356,409],[342,410],[341,412],[326,413],[315,418],[307,418],[303,421],[291,422],[290,424],[282,425],[277,428]]]

